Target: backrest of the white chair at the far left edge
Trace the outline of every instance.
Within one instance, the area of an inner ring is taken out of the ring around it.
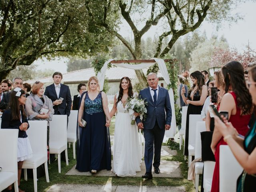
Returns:
[[[18,129],[0,129],[0,167],[2,172],[18,174]]]

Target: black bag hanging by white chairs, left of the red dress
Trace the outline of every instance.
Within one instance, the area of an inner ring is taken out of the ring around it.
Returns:
[[[201,132],[202,162],[215,161],[215,157],[211,149],[212,134],[212,131]]]

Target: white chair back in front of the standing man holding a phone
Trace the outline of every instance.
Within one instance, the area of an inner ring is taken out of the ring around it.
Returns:
[[[67,144],[67,116],[53,115],[50,121],[49,142],[61,142]]]

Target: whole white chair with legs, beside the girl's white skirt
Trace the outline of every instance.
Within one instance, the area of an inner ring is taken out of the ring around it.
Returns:
[[[31,144],[33,156],[24,160],[24,178],[28,180],[27,169],[33,169],[34,192],[37,192],[36,168],[44,164],[46,182],[49,181],[47,165],[47,121],[28,121],[29,129],[26,131]]]

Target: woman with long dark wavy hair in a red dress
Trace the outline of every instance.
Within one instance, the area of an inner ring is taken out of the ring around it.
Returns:
[[[239,62],[231,61],[225,64],[221,71],[224,77],[226,94],[222,97],[218,110],[228,111],[229,122],[235,126],[239,134],[244,136],[248,132],[247,125],[252,114],[252,97],[246,88],[244,68]],[[211,192],[218,192],[220,186],[220,145],[226,145],[226,142],[223,140],[220,131],[214,129],[211,148],[216,164]]]

